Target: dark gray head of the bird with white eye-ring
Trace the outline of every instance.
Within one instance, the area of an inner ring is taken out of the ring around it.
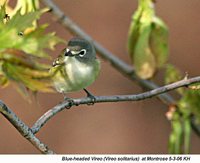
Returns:
[[[64,51],[64,56],[75,57],[81,62],[96,59],[96,52],[92,43],[81,38],[72,38]]]

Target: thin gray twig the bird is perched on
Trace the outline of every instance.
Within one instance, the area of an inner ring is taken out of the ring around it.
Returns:
[[[72,101],[64,101],[61,104],[56,105],[49,111],[47,111],[44,115],[42,115],[36,123],[31,128],[32,132],[35,134],[37,133],[41,127],[54,115],[56,115],[58,112],[64,110],[65,108],[69,108],[72,106],[78,106],[82,104],[90,104],[90,103],[102,103],[102,102],[122,102],[122,101],[139,101],[144,100],[147,98],[151,98],[153,96],[166,93],[168,91],[188,86],[193,83],[200,82],[200,76],[190,78],[190,79],[183,79],[181,81],[168,84],[156,89],[153,89],[151,91],[147,91],[144,93],[136,94],[136,95],[115,95],[115,96],[95,96],[95,101],[91,98],[79,98],[79,99],[72,99]]]

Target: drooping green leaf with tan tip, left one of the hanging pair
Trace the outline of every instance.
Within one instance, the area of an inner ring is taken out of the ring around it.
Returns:
[[[137,75],[146,79],[155,73],[155,58],[149,47],[151,22],[154,15],[150,0],[139,1],[129,29],[128,50]]]

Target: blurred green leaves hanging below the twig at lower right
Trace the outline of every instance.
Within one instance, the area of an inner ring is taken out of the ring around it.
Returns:
[[[172,124],[175,123],[174,121],[179,120],[179,123],[181,124],[179,127],[182,131],[182,138],[180,139],[179,147],[177,144],[177,147],[175,148],[175,142],[174,144],[172,143],[172,140],[169,142],[171,143],[171,146],[169,150],[172,153],[177,153],[178,150],[175,149],[180,149],[181,152],[187,154],[190,151],[190,135],[191,135],[191,117],[195,120],[193,125],[196,125],[197,128],[200,126],[200,92],[199,91],[194,91],[194,90],[185,90],[182,94],[182,98],[178,101],[177,106],[178,106],[178,111],[175,116],[179,115],[179,118],[175,118],[173,116]],[[175,128],[172,130],[172,134],[175,132]],[[178,130],[178,129],[177,129]],[[176,136],[178,137],[178,136]],[[172,139],[172,138],[170,138]],[[174,147],[174,148],[172,148]],[[173,150],[172,150],[173,149]]]

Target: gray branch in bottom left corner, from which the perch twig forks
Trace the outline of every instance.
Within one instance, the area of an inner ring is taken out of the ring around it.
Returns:
[[[2,101],[0,101],[0,112],[10,123],[12,123],[22,136],[31,142],[31,144],[33,144],[41,153],[54,154],[54,152],[50,150],[47,145],[43,144],[38,138],[35,137],[31,129]]]

